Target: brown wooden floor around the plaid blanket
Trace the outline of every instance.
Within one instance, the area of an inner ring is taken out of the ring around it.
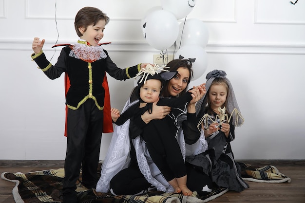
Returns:
[[[267,184],[248,182],[250,188],[238,193],[229,191],[209,203],[305,203],[305,160],[238,160],[252,165],[272,165],[289,178],[291,183]],[[0,160],[0,174],[56,169],[63,161]],[[14,203],[15,183],[0,180],[0,203]]]

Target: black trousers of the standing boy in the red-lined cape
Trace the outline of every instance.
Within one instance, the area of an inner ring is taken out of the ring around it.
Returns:
[[[64,195],[75,193],[80,169],[84,186],[96,187],[102,129],[103,111],[97,109],[94,100],[88,99],[77,110],[68,110]]]

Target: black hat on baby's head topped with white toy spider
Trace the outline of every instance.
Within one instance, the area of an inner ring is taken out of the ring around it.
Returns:
[[[145,82],[149,79],[157,79],[161,82],[170,80],[174,76],[178,74],[177,71],[171,72],[169,70],[165,70],[164,68],[170,68],[163,65],[156,65],[152,66],[151,64],[148,64],[145,68],[141,69],[141,71],[136,74],[133,78],[136,78],[141,75],[141,79],[138,81],[138,85],[143,85]],[[158,73],[158,71],[164,71],[162,73]]]

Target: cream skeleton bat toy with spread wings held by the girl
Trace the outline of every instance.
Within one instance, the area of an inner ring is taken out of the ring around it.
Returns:
[[[208,120],[210,119],[213,123],[217,123],[217,122],[219,121],[219,124],[218,124],[217,126],[215,126],[215,128],[216,128],[217,131],[218,131],[218,128],[221,129],[221,125],[222,125],[223,123],[225,123],[226,121],[228,121],[228,123],[230,122],[230,120],[231,120],[231,118],[232,118],[233,115],[234,115],[234,118],[235,118],[235,119],[234,119],[234,121],[235,121],[234,126],[237,125],[238,118],[241,118],[241,119],[243,120],[243,123],[244,123],[244,121],[245,121],[245,120],[244,120],[244,117],[242,116],[242,114],[241,114],[237,109],[233,109],[233,111],[232,111],[230,117],[228,117],[228,114],[226,113],[226,107],[224,107],[224,108],[218,107],[218,111],[220,112],[220,114],[217,114],[217,115],[216,115],[215,120],[214,120],[208,113],[204,114],[204,116],[201,118],[201,120],[200,120],[200,122],[199,122],[198,128],[199,128],[200,124],[201,124],[202,122],[204,122],[204,128],[205,128],[205,129],[209,129]],[[217,119],[219,119],[219,120],[217,120]],[[243,123],[242,123],[242,124],[243,124]],[[241,125],[242,125],[242,124],[241,124]]]

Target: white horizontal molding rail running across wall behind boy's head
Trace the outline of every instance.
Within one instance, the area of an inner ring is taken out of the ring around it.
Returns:
[[[45,51],[54,51],[52,46],[56,40],[45,42]],[[54,41],[54,43],[50,43]],[[64,40],[61,43],[75,43],[75,41]],[[32,40],[0,39],[0,50],[4,51],[32,51]],[[152,48],[145,41],[113,41],[112,44],[104,45],[110,52],[133,52],[133,53],[160,53],[159,50]],[[57,48],[61,49],[60,47]],[[176,48],[175,51],[178,49]],[[205,47],[207,53],[211,54],[285,54],[285,55],[305,55],[305,44],[264,44],[264,43],[216,43],[209,42]],[[174,47],[168,49],[168,53],[173,53]]]

